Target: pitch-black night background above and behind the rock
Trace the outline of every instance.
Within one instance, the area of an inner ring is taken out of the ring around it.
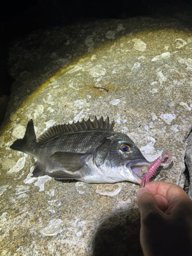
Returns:
[[[3,0],[0,2],[0,103],[3,95],[7,98],[10,95],[14,81],[7,68],[8,47],[34,30],[86,19],[134,16],[173,17],[192,27],[191,13],[191,0]]]

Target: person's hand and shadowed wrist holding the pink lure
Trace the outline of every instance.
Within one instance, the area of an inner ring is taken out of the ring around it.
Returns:
[[[192,255],[192,201],[183,189],[161,181],[137,193],[144,256]]]

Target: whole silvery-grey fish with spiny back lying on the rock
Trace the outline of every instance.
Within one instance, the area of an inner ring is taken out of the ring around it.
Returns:
[[[141,183],[151,165],[126,134],[114,131],[114,120],[90,118],[52,126],[36,139],[33,120],[12,150],[37,159],[32,177],[75,179],[87,183]]]

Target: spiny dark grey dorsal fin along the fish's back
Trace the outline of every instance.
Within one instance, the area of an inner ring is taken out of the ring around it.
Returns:
[[[92,130],[92,129],[105,129],[105,130],[113,130],[115,125],[115,121],[112,121],[110,123],[109,116],[103,120],[103,117],[98,120],[97,117],[95,116],[95,119],[93,121],[90,120],[90,118],[87,121],[84,121],[82,119],[81,122],[72,122],[71,124],[59,124],[55,125],[49,128],[45,133],[40,135],[38,137],[38,141],[44,141],[56,134],[59,133],[67,133],[69,131],[87,131],[87,130]]]

